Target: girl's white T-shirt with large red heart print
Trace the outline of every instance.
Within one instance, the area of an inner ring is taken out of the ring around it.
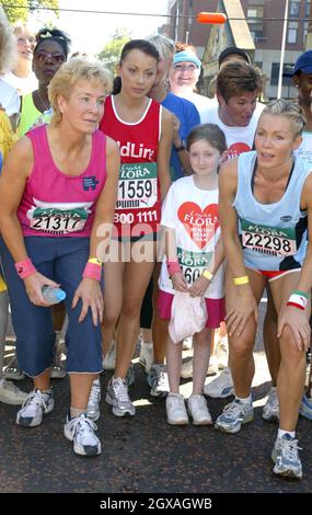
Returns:
[[[215,248],[221,234],[218,202],[218,190],[200,190],[190,175],[175,181],[163,203],[161,224],[175,229],[178,262],[189,285],[213,259]],[[174,294],[165,261],[161,266],[159,287],[163,291]],[[205,297],[220,299],[223,296],[224,267],[221,265]]]

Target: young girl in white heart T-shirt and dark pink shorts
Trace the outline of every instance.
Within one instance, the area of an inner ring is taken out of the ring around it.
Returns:
[[[218,215],[218,169],[227,150],[222,130],[212,124],[195,127],[187,138],[193,175],[177,180],[169,190],[162,208],[165,228],[165,260],[160,275],[158,307],[161,318],[171,319],[175,291],[205,297],[208,319],[194,334],[193,393],[188,411],[194,424],[211,424],[204,382],[210,355],[211,330],[224,318],[223,245]],[[169,336],[166,351],[170,393],[169,424],[187,424],[184,398],[180,394],[182,342]]]

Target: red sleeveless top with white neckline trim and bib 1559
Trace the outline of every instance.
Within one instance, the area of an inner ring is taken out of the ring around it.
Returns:
[[[118,198],[114,226],[118,237],[138,237],[158,231],[161,218],[158,146],[162,107],[149,100],[142,117],[124,122],[116,111],[114,96],[105,101],[100,129],[120,149]]]

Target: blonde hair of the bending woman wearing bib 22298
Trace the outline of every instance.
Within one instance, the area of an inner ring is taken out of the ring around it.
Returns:
[[[264,114],[285,116],[288,118],[293,129],[294,139],[302,134],[307,124],[304,111],[300,105],[282,99],[269,102],[262,112],[262,115]]]

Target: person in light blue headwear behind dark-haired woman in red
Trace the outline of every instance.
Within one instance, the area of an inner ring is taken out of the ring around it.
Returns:
[[[170,87],[174,94],[193,102],[199,113],[200,122],[204,123],[203,113],[211,107],[212,101],[195,92],[201,62],[192,48],[186,47],[173,56]]]

